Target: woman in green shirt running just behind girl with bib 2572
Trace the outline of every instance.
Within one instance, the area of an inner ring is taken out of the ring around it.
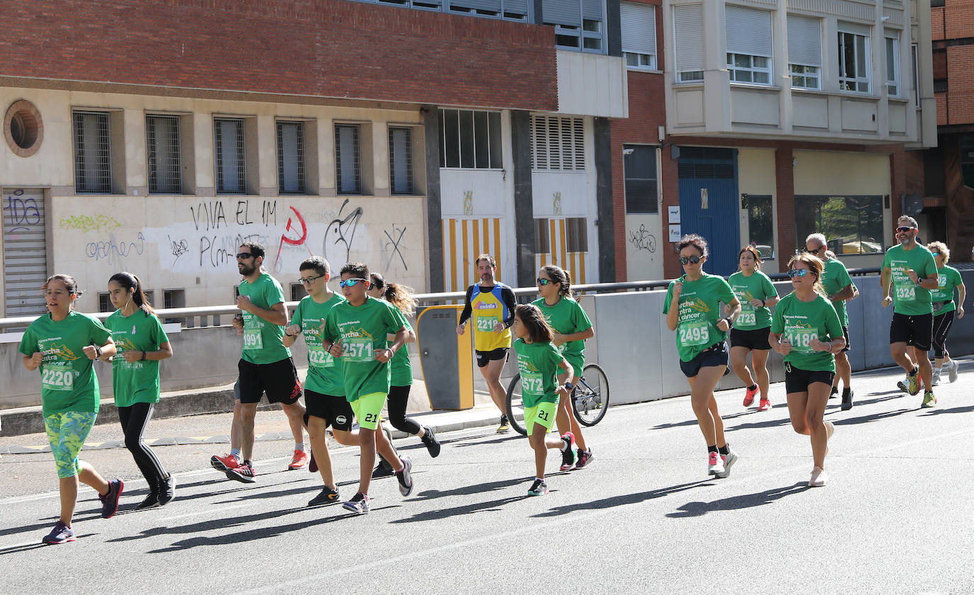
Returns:
[[[541,299],[535,300],[544,316],[544,320],[551,326],[553,336],[551,342],[558,351],[572,364],[575,374],[568,377],[558,375],[558,382],[568,381],[572,385],[579,384],[581,369],[585,367],[585,339],[595,336],[592,322],[585,315],[578,302],[572,299],[572,278],[561,267],[547,265],[538,272],[538,293]],[[573,468],[581,469],[592,461],[592,449],[585,445],[585,438],[581,435],[581,426],[572,415],[570,398],[559,399],[558,417],[556,423],[558,432],[569,435],[578,445],[578,458],[572,449],[562,451],[561,470]]]

